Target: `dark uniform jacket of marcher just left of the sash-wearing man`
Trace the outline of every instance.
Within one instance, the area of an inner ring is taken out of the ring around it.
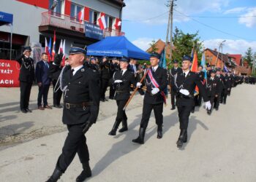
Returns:
[[[118,70],[113,74],[113,84],[115,80],[120,79],[123,82],[115,84],[116,86],[116,100],[128,100],[129,99],[129,91],[131,84],[136,85],[137,82],[135,81],[135,75],[132,74],[131,71],[127,70],[121,75],[121,70]]]

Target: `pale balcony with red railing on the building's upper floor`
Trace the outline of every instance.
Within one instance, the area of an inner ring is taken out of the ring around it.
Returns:
[[[86,38],[85,23],[88,21],[79,21],[76,17],[62,15],[56,12],[42,12],[42,22],[39,25],[40,32],[53,31],[56,28],[62,30],[61,32],[70,36]],[[92,23],[89,23],[94,25]],[[99,27],[98,25],[94,25]],[[105,28],[103,36],[124,36],[124,32],[114,30],[112,28]]]

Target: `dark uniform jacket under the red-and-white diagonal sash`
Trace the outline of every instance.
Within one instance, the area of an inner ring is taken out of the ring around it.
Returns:
[[[152,68],[150,68],[152,71]],[[167,81],[167,70],[164,68],[158,67],[156,71],[152,71],[152,74],[154,76],[154,79],[159,84],[159,90],[165,91],[165,87],[167,87],[168,81]],[[149,79],[149,76],[147,74],[146,76],[146,93],[144,96],[144,103],[150,103],[150,104],[157,104],[157,103],[163,103],[164,98],[162,97],[161,93],[158,92],[155,95],[151,94],[151,90],[154,88],[153,84],[151,83],[151,80]]]

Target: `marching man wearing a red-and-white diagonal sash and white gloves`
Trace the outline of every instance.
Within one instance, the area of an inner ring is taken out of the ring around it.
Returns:
[[[167,71],[164,68],[159,67],[160,55],[157,52],[152,52],[150,57],[151,68],[147,71],[146,75],[146,93],[143,100],[143,113],[140,122],[140,131],[138,138],[132,140],[135,143],[144,143],[144,137],[146,127],[148,126],[148,120],[152,109],[154,110],[154,116],[157,123],[157,138],[162,138],[162,123],[163,116],[162,110],[165,98],[165,88],[167,87]],[[138,82],[137,87],[142,84]]]

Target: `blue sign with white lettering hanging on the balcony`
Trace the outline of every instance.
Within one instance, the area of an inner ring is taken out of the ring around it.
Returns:
[[[86,37],[97,40],[103,39],[103,31],[99,28],[98,25],[85,22],[85,30]]]

